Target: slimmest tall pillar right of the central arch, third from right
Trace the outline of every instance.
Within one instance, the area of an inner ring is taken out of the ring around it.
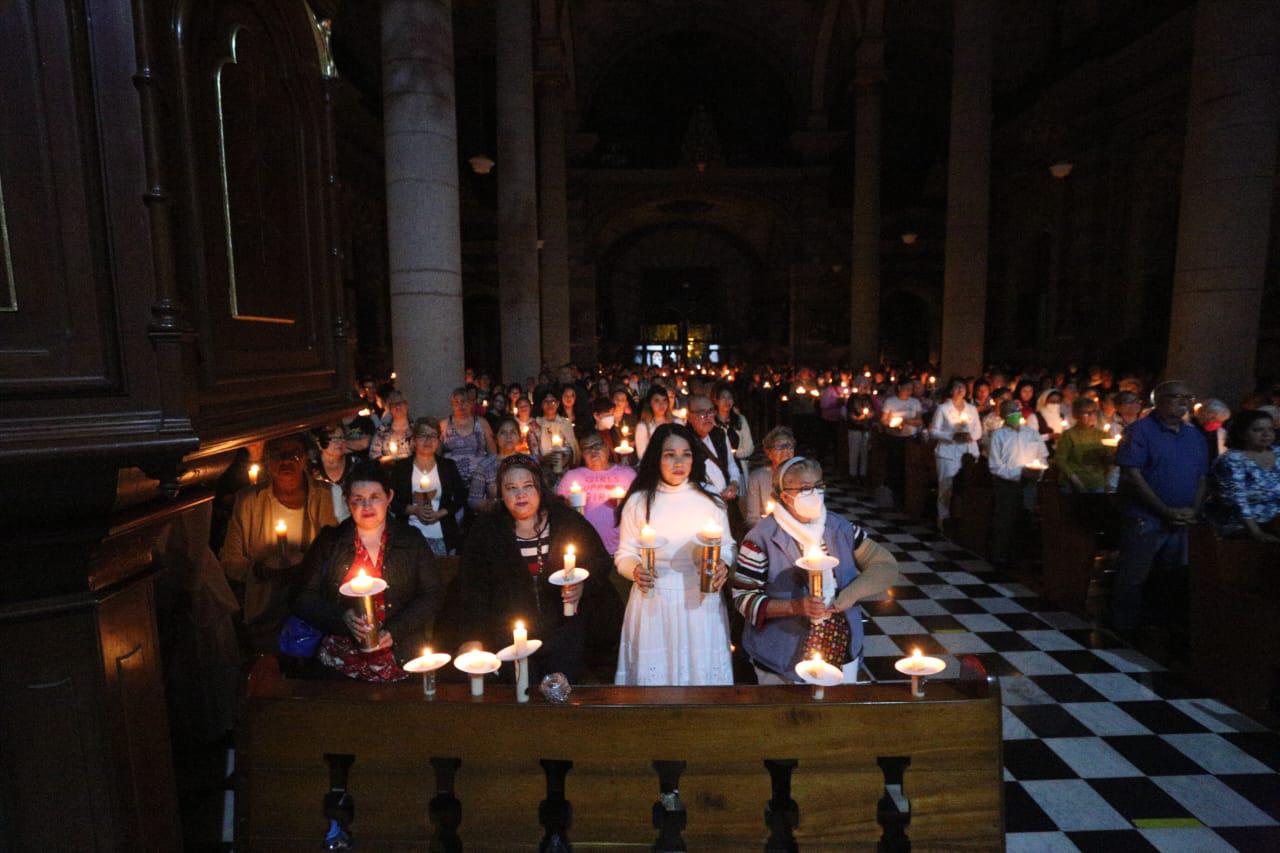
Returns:
[[[849,360],[879,360],[881,87],[884,79],[884,4],[861,9],[854,81],[854,209],[850,263]]]

